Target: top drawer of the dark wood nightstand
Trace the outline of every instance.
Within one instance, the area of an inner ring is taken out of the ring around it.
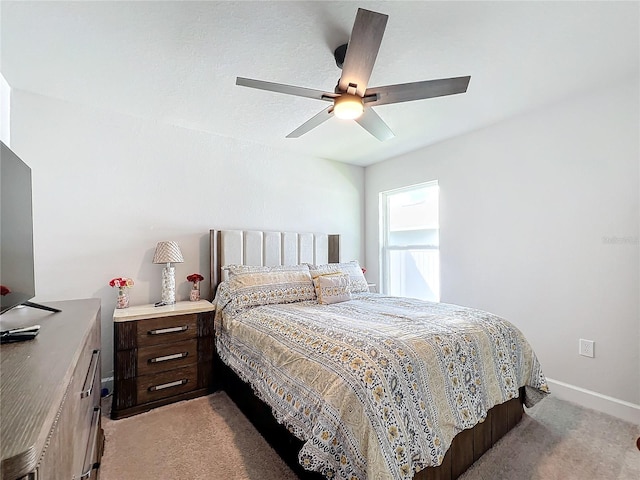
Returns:
[[[197,325],[196,314],[153,318],[138,322],[138,347],[196,338]]]

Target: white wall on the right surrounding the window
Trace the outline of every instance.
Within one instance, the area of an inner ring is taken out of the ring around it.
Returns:
[[[638,84],[368,167],[365,264],[375,279],[379,193],[438,180],[442,301],[511,320],[548,377],[640,423]]]

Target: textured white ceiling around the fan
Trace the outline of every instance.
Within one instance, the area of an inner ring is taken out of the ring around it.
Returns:
[[[358,7],[389,15],[370,86],[471,75],[467,93],[376,108],[379,142],[326,103],[236,76],[332,91],[333,50]],[[15,89],[369,165],[638,76],[638,2],[0,3],[1,70]]]

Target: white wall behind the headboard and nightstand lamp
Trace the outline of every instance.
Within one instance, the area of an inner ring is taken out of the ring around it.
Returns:
[[[208,278],[211,228],[342,234],[342,258],[363,250],[364,169],[12,91],[12,149],[32,169],[36,297],[98,297],[112,352],[116,292],[160,299],[158,241],[175,240],[177,300],[186,276]],[[203,292],[208,291],[208,283]],[[112,355],[103,355],[103,377]]]

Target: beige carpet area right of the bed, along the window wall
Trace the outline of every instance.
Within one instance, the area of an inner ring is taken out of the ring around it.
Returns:
[[[549,396],[459,480],[640,480],[640,425]]]

